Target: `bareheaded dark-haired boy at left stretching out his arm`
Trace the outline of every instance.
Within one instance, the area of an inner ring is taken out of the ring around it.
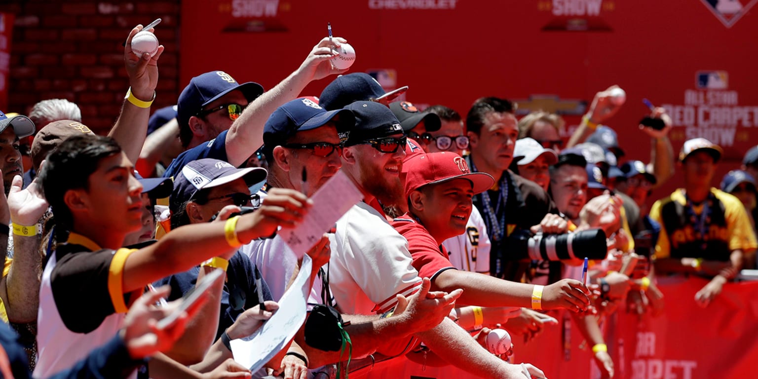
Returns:
[[[70,137],[49,155],[39,180],[58,241],[66,242],[53,246],[42,273],[35,377],[48,377],[107,342],[148,283],[233,254],[280,224],[292,227],[309,207],[292,191],[285,201],[224,225],[188,225],[143,249],[121,249],[125,236],[139,229],[142,186],[113,139]]]

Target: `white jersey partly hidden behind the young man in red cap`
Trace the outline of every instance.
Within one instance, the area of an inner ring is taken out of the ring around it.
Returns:
[[[450,263],[462,271],[490,271],[490,236],[476,207],[466,223],[466,232],[443,241]]]

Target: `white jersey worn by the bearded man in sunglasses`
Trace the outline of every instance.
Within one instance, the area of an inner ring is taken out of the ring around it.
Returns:
[[[409,296],[421,286],[408,241],[365,202],[337,221],[330,243],[329,287],[343,313],[387,312],[398,293]]]

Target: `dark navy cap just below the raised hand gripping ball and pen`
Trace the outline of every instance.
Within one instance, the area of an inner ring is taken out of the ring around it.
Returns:
[[[366,73],[340,75],[332,80],[318,96],[318,104],[329,111],[345,108],[356,101],[375,101],[388,103],[408,90],[408,86],[384,92],[381,84]]]

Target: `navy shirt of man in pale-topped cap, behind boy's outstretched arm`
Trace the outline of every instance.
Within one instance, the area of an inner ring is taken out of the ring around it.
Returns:
[[[260,275],[260,273],[256,273],[256,271],[258,269],[250,262],[250,258],[240,252],[234,253],[229,260],[227,280],[224,282],[224,292],[221,293],[221,318],[218,320],[217,340],[224,333],[224,330],[227,330],[227,327],[234,323],[237,316],[260,302],[258,290],[255,287],[255,275]],[[179,299],[187,291],[195,288],[199,272],[200,267],[197,266],[189,271],[164,277],[154,284],[155,287],[170,285],[171,294],[168,296],[168,300]],[[268,290],[268,285],[264,280],[261,280],[261,286],[263,299],[273,300],[271,291]]]

